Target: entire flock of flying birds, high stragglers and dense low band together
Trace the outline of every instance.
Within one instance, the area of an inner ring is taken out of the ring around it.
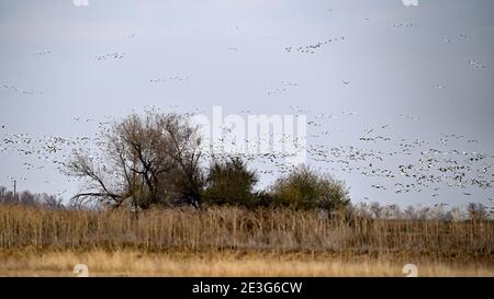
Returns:
[[[332,9],[328,10],[333,12]],[[368,20],[368,19],[366,19]],[[397,23],[393,24],[393,27],[415,27],[415,23]],[[237,27],[238,30],[238,27]],[[468,38],[465,34],[460,34],[460,38]],[[134,34],[127,36],[133,39]],[[316,54],[324,46],[329,44],[345,42],[345,36],[332,37],[319,41],[314,44],[300,45],[300,46],[287,46],[284,50],[287,53],[297,51],[303,54]],[[450,38],[445,38],[445,43],[451,43]],[[238,51],[237,47],[229,47],[231,51]],[[42,50],[33,53],[33,56],[42,57],[50,55],[50,50]],[[97,55],[97,60],[120,60],[124,58],[125,53],[111,53]],[[469,60],[469,66],[481,69],[486,68],[482,62],[475,60]],[[151,83],[160,82],[181,82],[190,80],[189,77],[171,76],[168,78],[150,79]],[[345,85],[349,85],[350,81],[343,80]],[[268,95],[283,94],[299,84],[292,81],[281,81],[281,85],[269,90]],[[27,95],[42,95],[41,91],[30,91],[16,88],[11,84],[2,83],[2,89],[13,91]],[[444,89],[444,85],[437,84],[438,89]],[[175,110],[177,106],[170,106]],[[290,106],[290,110],[295,115],[310,114],[310,111],[302,106]],[[194,115],[198,112],[187,113]],[[251,110],[243,110],[242,113],[251,113]],[[390,129],[389,124],[377,125],[371,128],[364,128],[361,136],[355,140],[353,146],[329,146],[327,142],[328,136],[332,135],[332,130],[328,128],[328,124],[338,117],[359,117],[360,114],[356,112],[341,112],[341,116],[335,114],[316,114],[312,116],[307,125],[312,133],[306,137],[311,139],[311,142],[306,142],[306,146],[294,143],[297,150],[304,150],[317,168],[322,171],[329,172],[346,172],[352,175],[361,175],[370,177],[371,180],[378,180],[380,182],[371,183],[370,188],[392,192],[395,195],[406,193],[428,193],[433,200],[440,196],[440,191],[446,188],[458,188],[459,194],[462,196],[472,196],[473,188],[487,189],[494,187],[494,173],[491,169],[491,161],[494,158],[493,154],[480,152],[480,151],[467,151],[454,148],[447,148],[451,145],[451,141],[461,141],[464,145],[476,145],[479,140],[469,139],[463,135],[457,134],[442,134],[438,140],[426,141],[418,139],[407,139],[403,137],[394,137],[386,135],[386,130]],[[420,119],[415,116],[400,115],[405,120],[419,122]],[[72,150],[85,147],[96,148],[97,145],[101,145],[103,139],[101,135],[109,130],[109,125],[112,122],[112,117],[108,116],[104,122],[99,122],[98,127],[100,131],[94,136],[77,136],[77,137],[60,137],[60,136],[42,136],[35,137],[29,134],[10,133],[8,125],[1,125],[0,131],[0,153],[16,153],[25,161],[22,163],[25,171],[41,171],[48,165],[55,166],[58,170],[63,170],[66,165],[67,159],[70,157]],[[75,122],[92,123],[97,122],[93,118],[74,117]],[[225,128],[226,133],[231,133],[231,128]],[[280,138],[287,141],[287,136],[270,136],[269,138]],[[321,141],[319,141],[321,140]],[[245,140],[248,142],[248,140]],[[260,140],[261,142],[268,142],[270,140]],[[228,138],[221,140],[220,145],[215,145],[218,148],[224,147],[224,142],[233,142]],[[377,143],[383,143],[385,150],[379,150]],[[285,159],[290,157],[287,152],[258,152],[258,153],[235,153],[240,154],[249,162],[260,165],[259,173],[266,175],[280,175],[285,174],[293,170],[293,165],[285,163]],[[94,159],[104,169],[106,169],[104,154],[101,153],[91,156],[89,158]],[[226,153],[228,156],[228,153]],[[211,158],[207,157],[206,158]],[[404,163],[403,161],[407,161]],[[110,169],[108,166],[108,169]],[[26,177],[7,177],[9,181],[23,182]],[[74,182],[74,179],[68,179],[69,182]],[[49,181],[45,181],[46,184],[53,184]],[[58,195],[65,194],[67,191],[58,192]],[[366,200],[369,197],[364,197]],[[494,199],[486,198],[487,202],[494,204]],[[446,205],[444,203],[436,203],[436,205]],[[493,208],[491,208],[494,211]]]

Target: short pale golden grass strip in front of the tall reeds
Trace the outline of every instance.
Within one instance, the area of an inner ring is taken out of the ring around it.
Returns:
[[[414,263],[419,276],[494,276],[494,261],[433,261],[428,257],[351,258],[310,254],[183,254],[116,252],[1,253],[1,276],[75,276],[76,264],[90,276],[404,276]]]

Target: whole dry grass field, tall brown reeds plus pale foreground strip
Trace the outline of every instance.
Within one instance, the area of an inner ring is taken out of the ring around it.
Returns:
[[[1,276],[494,276],[492,221],[327,218],[234,207],[0,208]]]

